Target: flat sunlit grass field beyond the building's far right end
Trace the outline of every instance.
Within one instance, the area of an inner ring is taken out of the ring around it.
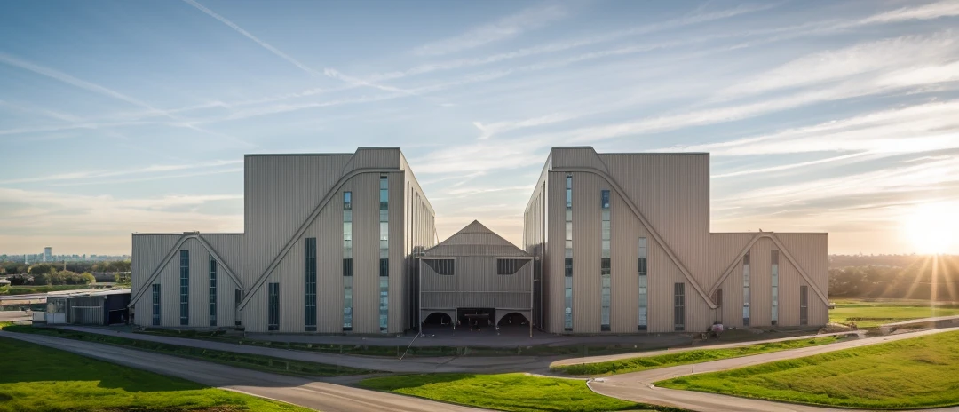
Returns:
[[[924,317],[959,315],[959,306],[933,307],[928,301],[839,300],[835,304],[835,309],[830,309],[830,322],[855,323],[858,328],[876,328],[886,323]]]

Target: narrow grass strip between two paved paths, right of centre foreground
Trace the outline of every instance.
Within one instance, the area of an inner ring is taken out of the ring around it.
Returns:
[[[677,352],[675,354],[630,357],[626,359],[611,360],[608,362],[554,366],[550,367],[550,370],[553,372],[578,376],[628,374],[630,372],[640,372],[647,369],[689,365],[691,363],[708,362],[710,360],[726,359],[730,357],[759,355],[768,352],[805,348],[807,346],[826,345],[841,339],[843,339],[842,336],[824,336],[811,339],[786,340],[783,342],[758,343],[755,345],[746,345],[737,348],[704,348],[694,351]]]

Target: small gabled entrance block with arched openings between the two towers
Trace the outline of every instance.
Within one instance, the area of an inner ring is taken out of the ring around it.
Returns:
[[[418,259],[419,331],[433,313],[454,328],[497,328],[501,322],[532,334],[532,256],[474,220]]]

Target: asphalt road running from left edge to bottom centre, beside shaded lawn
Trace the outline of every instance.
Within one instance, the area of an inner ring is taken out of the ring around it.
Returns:
[[[98,343],[2,331],[0,331],[0,336],[32,342],[162,375],[184,378],[204,385],[277,401],[286,401],[325,412],[458,412],[481,410]]]

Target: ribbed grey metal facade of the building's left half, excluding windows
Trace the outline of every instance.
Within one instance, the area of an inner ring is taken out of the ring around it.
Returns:
[[[133,293],[136,323],[151,324],[148,281],[160,284],[161,325],[179,327],[179,255],[189,250],[189,327],[207,327],[209,249],[237,275],[238,288],[218,273],[218,325],[242,322],[246,331],[268,331],[268,287],[279,284],[277,332],[304,332],[306,238],[316,238],[316,332],[342,332],[343,193],[353,204],[354,333],[380,333],[380,177],[388,180],[388,326],[403,332],[415,324],[411,274],[414,250],[435,241],[433,208],[399,149],[358,149],[354,154],[247,155],[244,234],[133,236]],[[192,235],[191,235],[192,236]],[[137,290],[144,292],[137,296]]]

